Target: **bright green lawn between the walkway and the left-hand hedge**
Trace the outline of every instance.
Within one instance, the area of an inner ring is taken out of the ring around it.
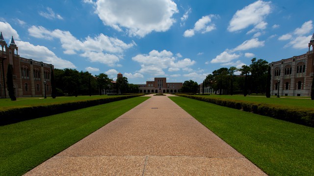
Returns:
[[[0,126],[0,175],[25,174],[148,98],[114,101]]]

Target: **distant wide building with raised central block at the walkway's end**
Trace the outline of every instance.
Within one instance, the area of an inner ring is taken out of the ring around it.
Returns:
[[[166,77],[155,77],[154,81],[138,84],[139,93],[178,93],[182,82],[167,82]]]

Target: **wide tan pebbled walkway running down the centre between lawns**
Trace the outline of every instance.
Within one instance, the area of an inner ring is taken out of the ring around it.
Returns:
[[[171,96],[171,95],[167,95]],[[166,96],[152,96],[26,176],[263,176]]]

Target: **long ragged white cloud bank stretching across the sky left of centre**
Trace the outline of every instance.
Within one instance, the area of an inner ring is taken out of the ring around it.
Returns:
[[[99,34],[95,37],[87,36],[84,40],[78,40],[69,31],[55,29],[53,31],[42,26],[31,26],[29,35],[36,38],[52,40],[57,38],[65,54],[79,54],[88,58],[91,62],[100,62],[108,66],[118,66],[121,53],[133,47],[135,42],[126,44],[123,41]]]

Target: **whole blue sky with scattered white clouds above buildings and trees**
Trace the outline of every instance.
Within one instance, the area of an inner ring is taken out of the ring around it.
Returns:
[[[313,0],[18,0],[1,2],[0,31],[19,54],[55,68],[129,83],[194,80],[221,67],[308,51]]]

